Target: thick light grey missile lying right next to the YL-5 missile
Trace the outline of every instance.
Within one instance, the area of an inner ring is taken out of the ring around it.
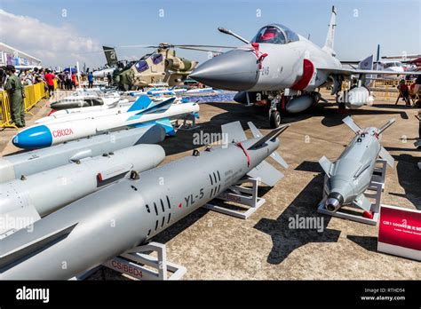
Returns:
[[[16,218],[16,221],[24,222],[22,218],[25,218],[32,224],[115,181],[150,170],[164,158],[161,146],[135,145],[4,182],[0,184],[0,219],[12,222]],[[19,227],[0,226],[0,239],[16,232]]]

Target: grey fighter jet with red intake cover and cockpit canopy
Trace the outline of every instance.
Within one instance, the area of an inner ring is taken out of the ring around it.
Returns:
[[[190,77],[213,88],[239,91],[234,99],[240,103],[269,107],[271,127],[281,124],[281,111],[299,113],[317,104],[322,99],[316,91],[319,87],[327,86],[338,98],[342,82],[351,75],[359,75],[360,82],[340,96],[346,100],[341,103],[349,108],[361,107],[372,99],[363,83],[364,76],[396,72],[342,67],[333,49],[336,15],[332,7],[328,36],[322,48],[277,23],[260,28],[251,41],[218,28],[246,45],[207,60]]]

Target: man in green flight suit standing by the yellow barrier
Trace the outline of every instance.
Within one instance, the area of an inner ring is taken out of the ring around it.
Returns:
[[[12,122],[16,124],[18,128],[25,126],[25,107],[23,105],[24,89],[20,78],[14,74],[16,72],[15,67],[6,66],[6,74],[9,75],[4,89],[9,91],[9,102],[11,105]]]

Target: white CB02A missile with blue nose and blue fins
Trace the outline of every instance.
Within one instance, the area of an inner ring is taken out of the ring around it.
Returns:
[[[165,101],[161,104],[171,105],[173,100],[169,99],[169,103],[165,103]],[[133,106],[136,105],[136,102],[133,103]],[[171,105],[165,110],[158,110],[157,112],[151,113],[148,113],[148,108],[138,109],[136,107],[132,109],[133,106],[124,113],[117,109],[116,111],[111,110],[113,113],[109,114],[110,110],[106,110],[99,112],[97,116],[90,116],[83,119],[37,124],[20,131],[13,137],[12,143],[16,147],[27,149],[51,147],[70,140],[97,135],[100,132],[154,122],[164,122],[164,129],[167,130],[167,128],[170,128],[167,133],[171,132],[171,134],[174,134],[170,119],[183,117],[199,111],[199,105],[195,103]],[[103,114],[104,112],[105,114]]]

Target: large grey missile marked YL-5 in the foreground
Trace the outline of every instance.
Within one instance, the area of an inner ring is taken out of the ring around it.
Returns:
[[[264,183],[283,175],[265,161],[276,153],[277,136],[263,136],[249,123],[247,139],[239,122],[222,126],[226,147],[193,155],[122,180],[36,221],[1,241],[0,279],[65,280],[147,242],[179,219],[211,201],[245,175]]]

